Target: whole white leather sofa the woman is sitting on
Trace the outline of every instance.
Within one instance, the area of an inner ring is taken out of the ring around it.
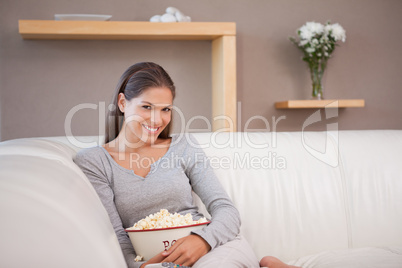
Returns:
[[[401,130],[193,135],[257,257],[402,267]],[[108,215],[72,161],[91,140],[0,143],[0,267],[125,267]]]

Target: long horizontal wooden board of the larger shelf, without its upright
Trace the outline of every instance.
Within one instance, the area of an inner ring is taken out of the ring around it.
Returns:
[[[235,36],[233,22],[20,20],[24,39],[214,40]]]

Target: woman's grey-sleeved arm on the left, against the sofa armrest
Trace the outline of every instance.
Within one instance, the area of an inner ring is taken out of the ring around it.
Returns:
[[[89,149],[94,150],[94,149]],[[103,206],[109,214],[110,222],[117,235],[124,258],[129,268],[139,268],[142,262],[134,262],[136,254],[130,238],[124,231],[120,215],[114,204],[114,193],[108,180],[103,162],[100,160],[99,152],[83,150],[74,158],[74,162],[87,176],[95,191],[97,192]]]

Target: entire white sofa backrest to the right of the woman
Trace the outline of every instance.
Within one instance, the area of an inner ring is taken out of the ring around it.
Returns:
[[[196,137],[216,144],[205,151],[258,257],[402,246],[402,131]]]

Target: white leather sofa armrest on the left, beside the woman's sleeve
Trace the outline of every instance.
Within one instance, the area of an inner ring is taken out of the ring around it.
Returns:
[[[28,141],[29,140],[29,141]],[[95,190],[53,141],[0,144],[4,267],[126,267]]]

